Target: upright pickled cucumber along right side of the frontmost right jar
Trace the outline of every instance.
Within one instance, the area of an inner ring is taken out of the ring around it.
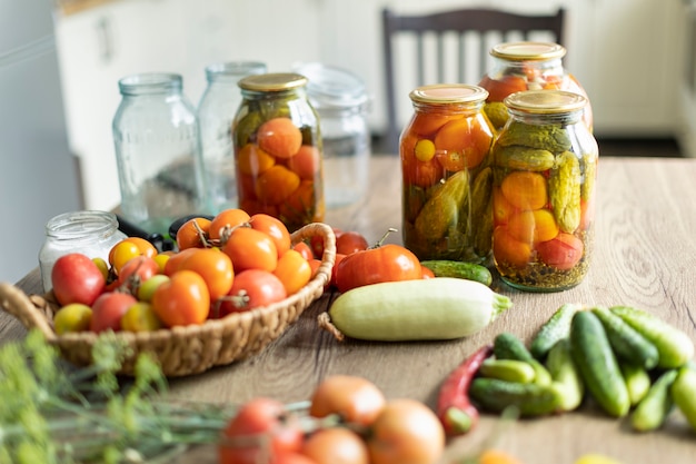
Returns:
[[[575,154],[564,151],[548,178],[554,217],[560,230],[571,234],[580,225],[580,162]]]

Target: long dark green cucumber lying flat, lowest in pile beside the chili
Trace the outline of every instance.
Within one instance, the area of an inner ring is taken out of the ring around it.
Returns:
[[[515,406],[521,416],[551,414],[559,411],[561,404],[556,384],[521,384],[499,378],[475,378],[469,386],[469,396],[484,409],[499,413]]]

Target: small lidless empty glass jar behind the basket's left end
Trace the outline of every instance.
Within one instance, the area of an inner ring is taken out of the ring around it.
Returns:
[[[51,218],[46,224],[46,240],[39,251],[43,290],[53,287],[51,270],[63,255],[81,253],[109,263],[111,247],[126,238],[118,226],[116,215],[107,211],[63,213]]]

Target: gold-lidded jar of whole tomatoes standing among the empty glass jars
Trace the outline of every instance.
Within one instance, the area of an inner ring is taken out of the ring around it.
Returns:
[[[240,208],[277,217],[290,231],[325,214],[319,118],[306,86],[297,73],[241,79],[232,129]]]

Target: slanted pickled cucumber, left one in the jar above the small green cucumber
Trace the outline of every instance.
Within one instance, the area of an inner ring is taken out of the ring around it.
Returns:
[[[439,240],[459,219],[469,195],[469,174],[466,169],[455,172],[425,204],[414,227],[421,237]]]

